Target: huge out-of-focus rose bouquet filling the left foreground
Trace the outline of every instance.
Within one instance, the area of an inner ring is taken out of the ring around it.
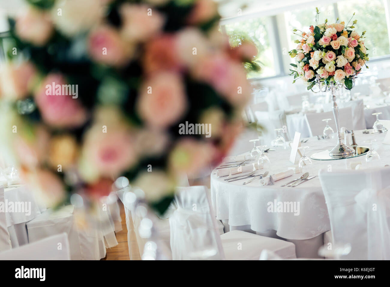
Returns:
[[[180,176],[218,164],[239,133],[255,46],[230,47],[211,0],[28,2],[0,83],[23,179],[55,206],[125,176],[164,212]]]

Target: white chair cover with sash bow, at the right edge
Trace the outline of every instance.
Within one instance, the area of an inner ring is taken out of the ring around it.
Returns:
[[[333,244],[350,243],[347,259],[390,260],[390,169],[321,170]]]

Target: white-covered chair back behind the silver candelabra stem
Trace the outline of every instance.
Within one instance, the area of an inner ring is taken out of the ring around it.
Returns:
[[[305,118],[308,127],[310,128],[310,137],[323,134],[326,123],[322,120],[328,118],[332,119],[329,121],[329,126],[333,128],[334,132],[336,132],[336,124],[333,117],[333,112],[307,113],[305,114]],[[346,127],[348,130],[353,129],[352,108],[339,108],[339,120],[340,128]]]

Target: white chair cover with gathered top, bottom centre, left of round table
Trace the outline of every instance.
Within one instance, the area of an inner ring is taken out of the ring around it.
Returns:
[[[169,217],[173,260],[225,258],[222,241],[204,186],[177,189],[177,209]]]

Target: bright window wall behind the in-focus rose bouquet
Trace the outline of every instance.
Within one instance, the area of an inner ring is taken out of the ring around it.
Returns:
[[[386,1],[386,3],[385,3]],[[288,73],[289,63],[293,61],[287,50],[296,47],[294,41],[299,36],[294,29],[308,32],[310,25],[316,23],[316,6],[319,11],[319,23],[328,19],[329,23],[345,21],[352,17],[358,20],[355,30],[361,34],[366,31],[365,45],[369,49],[370,59],[390,58],[388,18],[386,4],[388,0],[340,0],[331,4],[321,1],[308,2],[299,9],[290,9],[270,16],[261,16],[263,12],[236,18],[236,22],[222,21],[222,26],[230,37],[231,44],[237,44],[241,37],[251,39],[259,50],[258,59],[262,70],[248,73],[248,78],[266,78],[284,76]],[[295,6],[297,7],[297,6]],[[390,7],[389,7],[390,8]],[[259,16],[260,15],[260,16]],[[353,20],[349,23],[352,25]],[[300,32],[297,32],[300,33]]]

